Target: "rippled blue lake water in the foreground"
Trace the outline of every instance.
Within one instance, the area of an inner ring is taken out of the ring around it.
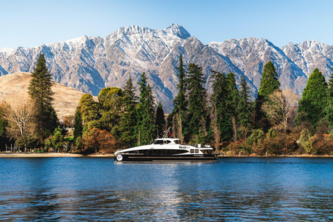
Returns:
[[[329,221],[333,158],[1,158],[1,221]]]

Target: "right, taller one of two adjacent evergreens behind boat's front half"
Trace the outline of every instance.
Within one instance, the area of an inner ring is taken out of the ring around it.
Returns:
[[[151,86],[147,83],[146,74],[139,81],[139,108],[137,112],[137,142],[138,145],[150,144],[155,134],[154,97]]]

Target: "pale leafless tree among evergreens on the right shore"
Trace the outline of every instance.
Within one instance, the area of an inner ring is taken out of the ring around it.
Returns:
[[[262,109],[271,118],[271,122],[282,125],[284,134],[287,134],[287,128],[290,121],[293,121],[291,118],[295,117],[299,100],[300,96],[291,89],[276,90],[268,96],[268,101],[263,104]]]

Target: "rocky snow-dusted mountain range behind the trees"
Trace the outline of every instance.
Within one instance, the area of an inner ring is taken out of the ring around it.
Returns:
[[[33,48],[0,49],[0,75],[33,71],[40,53],[56,82],[94,96],[103,87],[123,87],[129,77],[137,82],[146,72],[156,101],[162,102],[166,112],[172,111],[178,92],[180,54],[185,65],[194,62],[203,67],[208,93],[212,92],[212,69],[233,72],[237,83],[244,76],[255,96],[268,60],[278,71],[281,88],[298,94],[316,67],[325,78],[333,67],[333,46],[321,42],[307,40],[279,48],[268,40],[249,37],[203,44],[184,27],[172,24],[158,30],[127,26],[106,37],[82,36]]]

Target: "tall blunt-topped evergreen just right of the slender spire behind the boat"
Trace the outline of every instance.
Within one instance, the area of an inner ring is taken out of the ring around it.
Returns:
[[[187,68],[189,89],[189,130],[194,142],[205,143],[207,139],[207,95],[203,68],[190,63]],[[205,132],[206,131],[206,132]]]

